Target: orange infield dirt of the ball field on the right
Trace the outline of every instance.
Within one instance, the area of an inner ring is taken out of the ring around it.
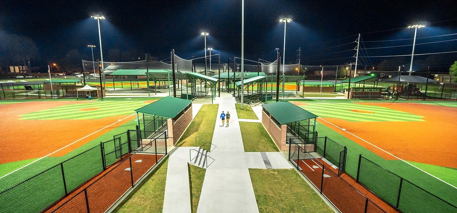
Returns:
[[[368,104],[424,116],[424,121],[352,122],[344,119],[324,120],[346,129],[358,137],[406,161],[456,168],[457,158],[457,108],[431,104]],[[322,119],[322,124],[357,142],[386,160],[397,158],[367,144],[359,138],[340,130]],[[318,128],[319,130],[319,128]]]

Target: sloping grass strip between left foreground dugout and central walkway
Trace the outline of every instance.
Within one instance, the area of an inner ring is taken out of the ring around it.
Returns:
[[[203,104],[176,146],[202,146],[210,151],[219,104]],[[197,145],[195,141],[197,139]]]

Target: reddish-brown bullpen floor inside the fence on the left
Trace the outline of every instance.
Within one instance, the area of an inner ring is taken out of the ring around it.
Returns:
[[[163,156],[158,155],[157,161],[161,157]],[[105,212],[132,187],[132,177],[133,183],[137,182],[157,162],[155,155],[148,154],[132,155],[131,160],[131,171],[128,170],[130,168],[128,159],[119,161],[73,190],[73,192],[69,192],[67,196],[43,212],[87,212],[86,193],[90,212]]]

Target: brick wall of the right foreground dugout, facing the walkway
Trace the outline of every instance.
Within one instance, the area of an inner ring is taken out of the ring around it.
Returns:
[[[267,115],[264,110],[262,110],[262,124],[281,151],[289,150],[289,146],[286,144],[287,125],[279,127],[273,121],[271,115]]]

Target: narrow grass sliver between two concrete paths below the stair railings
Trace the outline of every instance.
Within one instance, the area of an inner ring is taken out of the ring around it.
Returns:
[[[198,201],[200,200],[200,194],[202,193],[203,180],[205,179],[206,169],[198,166],[189,165],[189,183],[191,190],[191,207],[192,212],[197,212]]]

